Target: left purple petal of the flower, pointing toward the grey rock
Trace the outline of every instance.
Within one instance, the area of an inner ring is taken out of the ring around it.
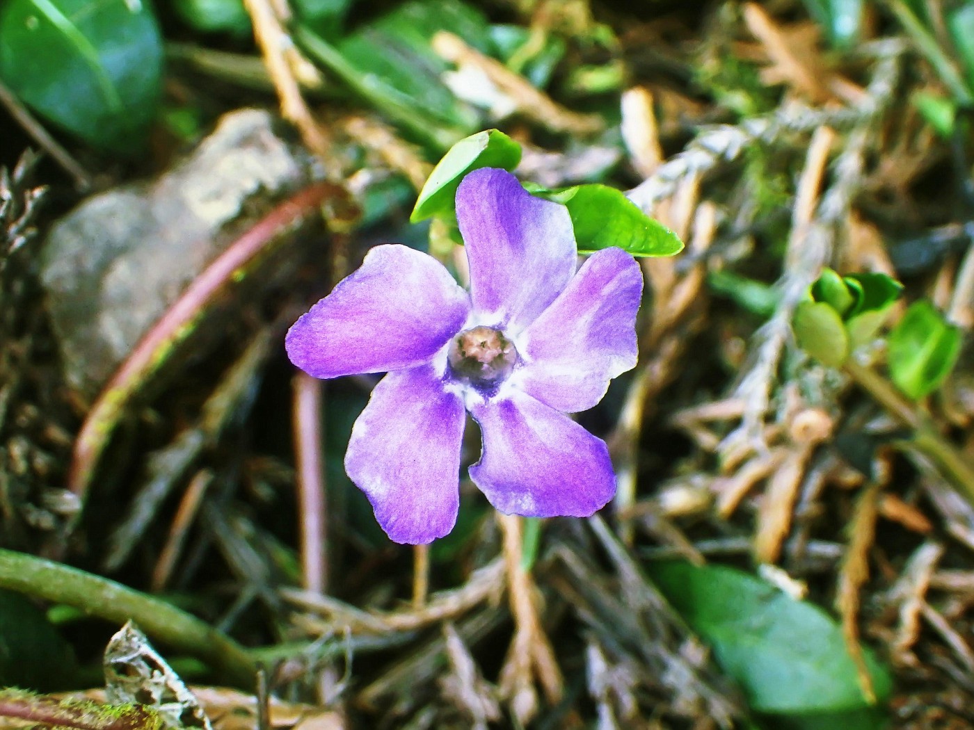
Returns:
[[[316,378],[413,367],[460,331],[469,307],[467,292],[431,256],[376,246],[294,323],[284,345]]]

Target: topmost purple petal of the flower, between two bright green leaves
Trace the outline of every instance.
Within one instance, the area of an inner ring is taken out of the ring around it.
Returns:
[[[470,298],[479,324],[516,332],[541,314],[575,272],[568,209],[528,193],[503,169],[473,170],[457,189]]]

